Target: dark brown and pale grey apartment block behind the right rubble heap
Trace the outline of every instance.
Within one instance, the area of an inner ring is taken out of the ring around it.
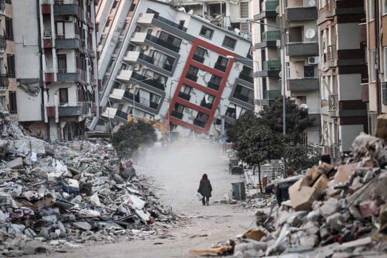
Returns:
[[[351,151],[360,132],[368,132],[362,102],[368,70],[359,28],[364,18],[363,0],[318,1],[322,143],[334,159]]]

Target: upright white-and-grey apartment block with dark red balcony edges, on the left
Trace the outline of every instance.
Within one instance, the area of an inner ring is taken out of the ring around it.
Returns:
[[[14,1],[15,106],[32,135],[74,140],[98,114],[95,4]]]

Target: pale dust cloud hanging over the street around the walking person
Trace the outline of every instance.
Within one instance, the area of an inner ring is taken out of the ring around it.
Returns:
[[[153,177],[154,184],[161,185],[163,190],[159,196],[164,205],[171,203],[179,212],[192,212],[190,206],[199,205],[194,194],[204,173],[213,187],[210,202],[221,200],[224,189],[231,189],[231,185],[221,185],[225,184],[221,178],[229,176],[228,161],[221,145],[212,140],[191,139],[170,147],[153,147],[139,165],[139,172]]]

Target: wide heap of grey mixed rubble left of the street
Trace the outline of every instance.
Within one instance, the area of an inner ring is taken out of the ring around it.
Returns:
[[[0,128],[0,256],[156,237],[177,223],[152,182],[132,162],[120,166],[110,146],[49,145],[26,135],[3,107]]]

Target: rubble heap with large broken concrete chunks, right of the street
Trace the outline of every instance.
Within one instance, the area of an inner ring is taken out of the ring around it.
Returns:
[[[353,149],[346,165],[322,163],[296,181],[277,219],[272,208],[270,212],[258,209],[257,230],[263,236],[259,240],[236,237],[224,245],[228,252],[234,250],[237,257],[385,255],[387,142],[361,133]],[[264,208],[263,203],[258,206]]]

